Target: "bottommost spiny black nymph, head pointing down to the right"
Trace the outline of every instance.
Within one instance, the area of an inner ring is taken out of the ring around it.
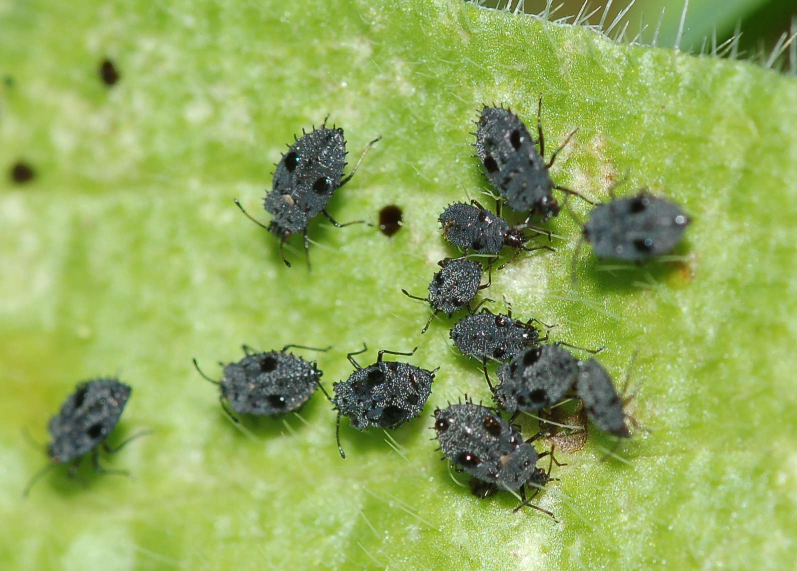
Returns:
[[[486,498],[497,490],[519,491],[523,506],[534,507],[553,517],[553,514],[529,502],[548,483],[548,473],[536,467],[543,456],[532,446],[534,437],[523,440],[523,436],[512,424],[495,411],[470,401],[449,405],[434,411],[434,431],[445,458],[467,472],[474,494]],[[557,462],[557,465],[559,464]],[[532,495],[526,498],[526,487]]]

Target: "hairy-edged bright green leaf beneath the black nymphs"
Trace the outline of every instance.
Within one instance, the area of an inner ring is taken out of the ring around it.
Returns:
[[[13,78],[0,164],[37,173],[0,182],[4,569],[792,564],[795,80],[444,0],[16,2],[0,18]],[[426,415],[390,435],[344,420],[346,460],[320,393],[300,417],[226,420],[190,360],[218,377],[242,342],[334,344],[317,355],[328,388],[363,342],[370,358],[418,345],[410,362],[441,366],[428,413],[462,393],[489,400],[452,321],[421,336],[429,310],[400,287],[422,294],[455,253],[437,222],[449,202],[491,204],[469,147],[481,104],[533,128],[540,92],[548,147],[579,127],[556,182],[599,201],[612,182],[649,186],[693,224],[675,257],[642,267],[581,248],[573,285],[589,206],[571,199],[550,225],[556,253],[520,256],[489,297],[557,323],[554,338],[606,346],[618,385],[638,351],[632,409],[650,434],[623,443],[623,461],[601,461],[614,442],[593,429],[558,452],[567,466],[538,496],[557,524],[512,513],[507,493],[470,495]],[[299,239],[285,268],[232,200],[267,221],[271,164],[327,114],[351,157],[383,135],[332,215],[376,221],[395,203],[405,225],[387,238],[313,224],[312,272]],[[134,386],[111,440],[155,430],[104,460],[135,481],[84,466],[81,486],[59,467],[22,500],[46,459],[20,429],[46,440],[74,384],[108,373]]]

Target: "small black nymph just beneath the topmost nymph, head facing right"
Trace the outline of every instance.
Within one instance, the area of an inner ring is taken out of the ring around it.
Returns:
[[[521,250],[531,252],[538,249],[553,252],[553,248],[548,246],[529,248],[524,245],[528,241],[524,233],[528,225],[510,226],[501,218],[500,212],[492,213],[475,200],[470,204],[454,202],[448,205],[438,220],[446,241],[466,252],[497,255],[504,246],[516,250],[516,254]]]

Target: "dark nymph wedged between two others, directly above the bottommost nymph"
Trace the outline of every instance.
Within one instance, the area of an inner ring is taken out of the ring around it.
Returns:
[[[533,413],[563,401],[575,387],[579,361],[562,346],[572,347],[565,342],[525,347],[512,361],[498,367],[501,382],[490,390],[501,409],[512,415]],[[575,348],[593,354],[602,350]]]

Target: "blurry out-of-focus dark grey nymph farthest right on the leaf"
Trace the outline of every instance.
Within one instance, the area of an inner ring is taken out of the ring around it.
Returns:
[[[599,258],[642,261],[675,248],[689,222],[680,206],[641,190],[595,206],[583,237]]]

